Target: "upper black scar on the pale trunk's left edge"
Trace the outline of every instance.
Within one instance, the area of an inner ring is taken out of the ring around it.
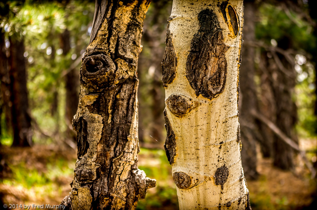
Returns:
[[[170,19],[169,19],[170,21]],[[173,82],[176,76],[177,57],[172,43],[171,32],[168,29],[170,24],[167,24],[166,38],[165,38],[165,54],[162,61],[162,82],[163,86]]]

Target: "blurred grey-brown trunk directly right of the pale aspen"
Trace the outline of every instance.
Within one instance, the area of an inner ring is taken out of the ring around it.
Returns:
[[[242,48],[242,64],[240,69],[240,95],[239,95],[239,120],[241,129],[241,158],[243,171],[247,178],[256,179],[256,135],[255,119],[250,113],[250,108],[256,109],[255,77],[255,48],[251,42],[255,41],[255,14],[256,7],[253,1],[244,1],[244,28]]]

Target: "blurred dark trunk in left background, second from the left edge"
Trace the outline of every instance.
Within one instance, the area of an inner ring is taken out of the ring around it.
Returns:
[[[10,40],[10,101],[13,130],[12,146],[30,146],[32,144],[31,118],[28,114],[29,102],[26,86],[26,67],[24,40],[17,34]]]

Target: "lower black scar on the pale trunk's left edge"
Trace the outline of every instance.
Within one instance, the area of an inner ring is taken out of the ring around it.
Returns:
[[[165,149],[168,162],[170,162],[170,164],[173,164],[174,157],[176,154],[176,139],[175,139],[175,133],[173,132],[171,128],[170,121],[168,120],[166,116],[166,109],[164,110],[164,119],[165,119],[165,128],[166,128],[166,140],[164,144],[164,149]]]

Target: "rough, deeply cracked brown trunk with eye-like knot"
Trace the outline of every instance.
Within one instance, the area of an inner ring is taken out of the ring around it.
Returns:
[[[155,180],[137,167],[137,60],[150,2],[96,1],[73,119],[77,162],[66,209],[135,209]]]

